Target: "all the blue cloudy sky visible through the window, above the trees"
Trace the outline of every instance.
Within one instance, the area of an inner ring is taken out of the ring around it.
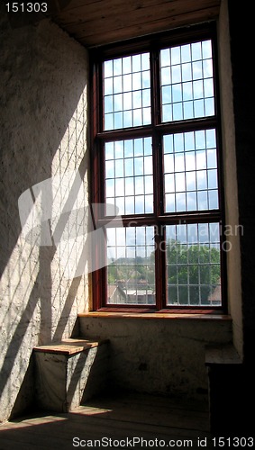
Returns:
[[[163,122],[214,115],[210,40],[162,49],[159,65]],[[150,54],[105,61],[104,95],[105,130],[150,124]],[[215,130],[164,136],[163,162],[165,211],[218,208]],[[105,143],[106,202],[120,214],[153,212],[152,171],[150,138]],[[205,236],[197,225],[184,227],[168,226],[168,238],[218,245],[217,224],[205,224]],[[153,235],[153,227],[108,229],[109,256],[144,257],[154,250]]]

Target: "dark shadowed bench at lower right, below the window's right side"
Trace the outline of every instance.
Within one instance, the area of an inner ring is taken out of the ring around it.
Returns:
[[[205,366],[209,381],[210,430],[232,432],[241,424],[241,357],[232,345],[206,347]]]

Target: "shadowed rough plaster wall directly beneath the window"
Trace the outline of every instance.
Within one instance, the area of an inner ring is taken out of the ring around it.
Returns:
[[[231,320],[80,317],[84,338],[110,342],[114,388],[207,401],[205,346],[232,342]]]

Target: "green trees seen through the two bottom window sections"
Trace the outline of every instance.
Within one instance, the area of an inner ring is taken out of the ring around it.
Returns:
[[[168,304],[209,305],[220,284],[220,250],[209,245],[167,243]],[[155,289],[155,253],[150,257],[119,258],[108,266],[108,284],[146,284]],[[156,268],[157,270],[157,268]],[[218,299],[221,300],[220,298]]]

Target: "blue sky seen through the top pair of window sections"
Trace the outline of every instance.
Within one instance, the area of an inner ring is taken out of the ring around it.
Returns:
[[[162,121],[214,114],[210,40],[160,51]],[[150,54],[105,61],[105,130],[150,123]]]

